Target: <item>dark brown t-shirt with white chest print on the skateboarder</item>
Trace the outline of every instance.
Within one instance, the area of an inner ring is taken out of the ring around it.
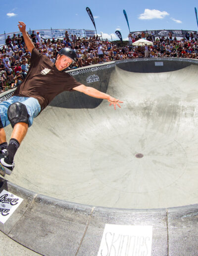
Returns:
[[[58,71],[46,55],[34,48],[27,76],[15,90],[14,96],[36,98],[42,111],[56,95],[73,91],[79,85],[81,83],[65,71]]]

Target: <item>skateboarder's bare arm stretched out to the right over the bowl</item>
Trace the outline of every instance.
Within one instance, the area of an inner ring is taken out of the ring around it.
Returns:
[[[114,105],[114,109],[116,109],[116,105],[120,107],[119,103],[123,103],[123,101],[120,101],[118,99],[115,99],[113,97],[111,97],[110,95],[100,92],[99,90],[93,88],[93,87],[88,87],[85,86],[84,84],[79,85],[77,87],[74,87],[73,90],[79,91],[79,92],[83,92],[91,97],[94,98],[98,98],[98,99],[105,99],[108,100],[108,102],[110,102],[109,106],[111,106],[112,104]]]

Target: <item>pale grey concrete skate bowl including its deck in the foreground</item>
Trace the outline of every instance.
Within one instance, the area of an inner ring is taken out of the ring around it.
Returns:
[[[1,183],[24,198],[2,232],[42,255],[91,256],[105,223],[152,225],[152,255],[197,255],[198,65],[155,62],[75,70],[124,103],[78,92],[51,102]]]

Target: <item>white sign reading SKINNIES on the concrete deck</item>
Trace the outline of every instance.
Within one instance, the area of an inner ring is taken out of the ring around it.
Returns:
[[[105,224],[98,256],[151,256],[152,226]]]

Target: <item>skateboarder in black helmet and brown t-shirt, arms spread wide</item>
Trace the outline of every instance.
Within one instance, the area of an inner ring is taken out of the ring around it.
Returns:
[[[31,64],[24,81],[17,87],[14,96],[0,103],[0,174],[10,175],[14,168],[14,155],[19,148],[33,119],[43,111],[50,101],[63,91],[79,91],[99,99],[106,99],[110,105],[120,107],[123,103],[95,88],[76,81],[64,70],[76,61],[76,53],[71,48],[58,52],[55,64],[39,53],[26,32],[26,24],[19,21],[25,45],[31,53]],[[9,144],[6,142],[4,127],[11,124],[13,131]]]

